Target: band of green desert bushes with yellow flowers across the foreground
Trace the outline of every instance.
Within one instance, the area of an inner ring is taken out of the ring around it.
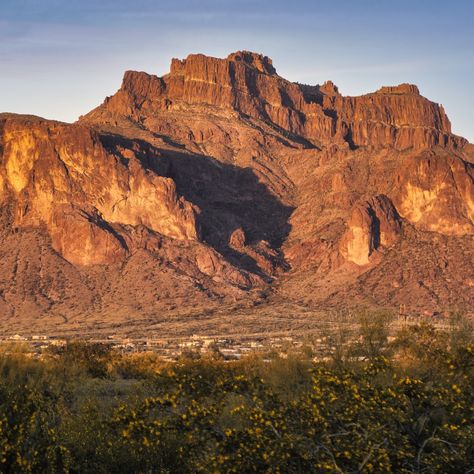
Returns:
[[[384,314],[364,313],[325,357],[3,345],[0,470],[472,472],[473,329],[455,319],[390,335]]]

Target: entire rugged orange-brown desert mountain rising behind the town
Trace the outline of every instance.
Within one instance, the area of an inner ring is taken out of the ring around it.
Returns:
[[[0,114],[0,157],[5,331],[473,310],[473,146],[411,84],[189,55],[75,124]]]

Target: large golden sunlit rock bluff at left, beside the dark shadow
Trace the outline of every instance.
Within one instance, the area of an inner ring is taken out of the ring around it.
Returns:
[[[147,169],[133,147],[107,149],[83,126],[5,120],[0,172],[13,226],[46,226],[56,250],[80,265],[124,257],[127,245],[113,226],[197,240],[198,208],[178,196],[171,178]]]

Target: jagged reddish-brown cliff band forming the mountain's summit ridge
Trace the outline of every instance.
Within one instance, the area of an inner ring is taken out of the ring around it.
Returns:
[[[109,112],[146,122],[157,111],[203,104],[266,121],[314,146],[405,149],[465,143],[451,134],[444,109],[422,97],[414,85],[343,97],[331,82],[291,83],[278,76],[269,58],[246,51],[226,59],[202,54],[173,59],[170,73],[161,78],[129,71],[117,94],[90,118]]]

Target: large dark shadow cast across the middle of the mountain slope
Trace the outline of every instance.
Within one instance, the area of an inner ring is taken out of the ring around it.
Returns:
[[[294,208],[272,194],[251,168],[202,154],[160,149],[140,139],[104,135],[102,141],[121,160],[126,158],[118,147],[132,149],[146,169],[172,178],[178,194],[201,209],[202,240],[233,263],[261,274],[253,258],[229,245],[232,233],[241,228],[249,245],[268,242],[283,264],[279,247],[291,230],[289,218]]]

